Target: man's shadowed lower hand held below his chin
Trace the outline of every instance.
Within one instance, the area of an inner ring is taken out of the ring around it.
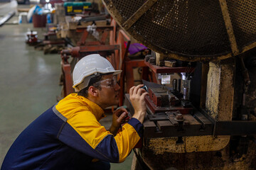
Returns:
[[[118,108],[114,111],[112,116],[112,125],[110,127],[110,132],[115,136],[122,123],[125,123],[129,120],[128,111],[125,108]]]

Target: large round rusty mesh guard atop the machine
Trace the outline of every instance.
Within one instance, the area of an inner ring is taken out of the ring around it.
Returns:
[[[178,60],[221,60],[255,47],[254,0],[103,1],[117,23],[135,39]]]

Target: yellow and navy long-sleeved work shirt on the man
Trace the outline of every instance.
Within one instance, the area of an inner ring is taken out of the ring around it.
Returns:
[[[123,162],[142,137],[142,123],[132,118],[113,136],[99,120],[102,108],[70,94],[21,132],[1,170],[87,169],[92,159]]]

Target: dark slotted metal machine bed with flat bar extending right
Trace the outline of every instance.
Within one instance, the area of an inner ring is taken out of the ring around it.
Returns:
[[[129,94],[125,95],[126,105],[134,114],[134,109],[129,101]],[[218,121],[211,117],[206,111],[198,111],[193,108],[193,113],[183,115],[183,123],[169,120],[168,114],[152,114],[147,109],[144,120],[144,138],[157,137],[183,137],[203,135],[256,135],[256,121],[231,120]]]

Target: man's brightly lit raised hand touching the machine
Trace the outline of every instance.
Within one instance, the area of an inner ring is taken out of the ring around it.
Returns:
[[[129,98],[134,107],[134,115],[132,118],[137,118],[141,123],[143,123],[146,114],[145,96],[149,95],[145,89],[141,89],[142,86],[144,85],[139,84],[129,89]]]

